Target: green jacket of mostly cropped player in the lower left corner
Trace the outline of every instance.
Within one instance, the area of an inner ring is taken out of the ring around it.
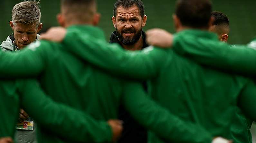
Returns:
[[[0,81],[0,101],[0,138],[14,137],[20,107],[55,136],[80,142],[110,141],[112,138],[111,128],[106,122],[96,122],[81,111],[53,102],[35,80]],[[101,139],[95,132],[102,134]]]

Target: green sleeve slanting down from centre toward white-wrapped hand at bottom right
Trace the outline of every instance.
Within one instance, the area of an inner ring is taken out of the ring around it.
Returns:
[[[156,104],[139,83],[124,85],[122,102],[128,112],[148,130],[168,142],[210,143],[211,134],[200,125],[184,122]]]

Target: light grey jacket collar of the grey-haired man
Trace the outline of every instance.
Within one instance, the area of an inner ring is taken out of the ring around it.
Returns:
[[[40,35],[37,34],[36,40],[39,40]],[[14,42],[14,33],[7,37],[7,39],[0,45],[1,48],[14,51],[16,44]]]

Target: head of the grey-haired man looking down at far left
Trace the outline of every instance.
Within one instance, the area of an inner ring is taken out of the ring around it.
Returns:
[[[23,1],[13,7],[10,26],[14,31],[15,44],[20,49],[35,41],[42,29],[38,4],[39,1]]]

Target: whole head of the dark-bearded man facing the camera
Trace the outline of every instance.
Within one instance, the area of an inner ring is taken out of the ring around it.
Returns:
[[[119,41],[124,45],[135,44],[141,37],[147,16],[141,0],[117,0],[112,22]]]

